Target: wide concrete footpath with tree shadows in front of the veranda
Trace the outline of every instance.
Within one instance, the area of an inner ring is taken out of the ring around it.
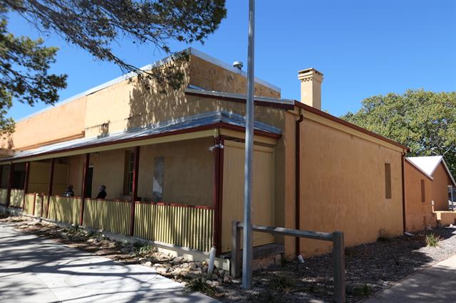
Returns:
[[[151,267],[105,257],[0,223],[0,302],[217,302],[182,294]]]

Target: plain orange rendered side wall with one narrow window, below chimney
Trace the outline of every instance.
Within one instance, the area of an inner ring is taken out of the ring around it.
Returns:
[[[403,233],[401,153],[304,118],[301,123],[301,213],[304,230],[341,230],[346,246]],[[392,198],[385,198],[385,163]],[[287,213],[294,216],[294,212]],[[301,252],[328,252],[331,243],[301,240]],[[288,253],[294,252],[287,245]]]

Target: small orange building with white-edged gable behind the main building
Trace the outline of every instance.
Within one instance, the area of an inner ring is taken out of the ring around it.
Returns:
[[[448,201],[456,186],[445,159],[443,156],[407,157],[404,173],[406,230],[434,228],[437,220],[441,220],[441,212],[450,211]],[[455,223],[454,219],[449,222]]]

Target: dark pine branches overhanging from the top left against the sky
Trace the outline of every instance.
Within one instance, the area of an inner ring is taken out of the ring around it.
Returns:
[[[203,43],[226,16],[224,0],[0,1],[0,134],[14,130],[14,121],[6,117],[13,98],[31,106],[40,101],[53,104],[58,90],[66,87],[66,75],[48,74],[58,49],[43,46],[42,39],[10,33],[11,12],[38,31],[55,33],[98,60],[117,64],[124,73],[134,72],[174,88],[182,85],[183,78],[174,67],[186,56],[173,53],[169,41]],[[113,43],[125,41],[161,50],[174,56],[176,63],[160,71],[140,70],[113,52]]]

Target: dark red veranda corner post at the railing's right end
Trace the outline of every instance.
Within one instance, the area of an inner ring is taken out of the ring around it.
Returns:
[[[219,136],[214,139],[214,144],[224,145],[224,137]],[[223,149],[214,149],[214,188],[213,188],[213,207],[214,207],[214,248],[217,248],[217,255],[222,253],[222,190],[223,190]]]

